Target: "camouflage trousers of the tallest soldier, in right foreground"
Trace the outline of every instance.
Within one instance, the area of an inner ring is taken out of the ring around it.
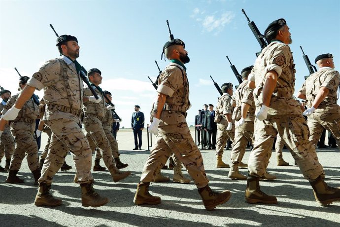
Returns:
[[[266,173],[266,159],[272,152],[277,134],[292,150],[291,154],[307,180],[313,181],[324,174],[315,148],[308,140],[309,131],[303,115],[274,115],[263,121],[255,119],[254,149],[248,161],[250,175],[263,177]]]

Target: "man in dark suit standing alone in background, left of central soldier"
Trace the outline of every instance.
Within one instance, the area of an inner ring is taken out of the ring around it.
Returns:
[[[134,130],[135,148],[133,150],[141,150],[142,140],[141,134],[144,129],[144,114],[139,112],[140,107],[135,105],[135,112],[131,117],[131,128]],[[137,141],[138,136],[138,141]]]

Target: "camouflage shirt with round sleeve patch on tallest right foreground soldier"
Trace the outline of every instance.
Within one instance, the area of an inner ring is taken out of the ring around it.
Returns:
[[[272,41],[257,57],[251,74],[255,76],[256,88],[254,101],[260,110],[263,97],[262,90],[269,71],[278,75],[272,93],[268,115],[301,114],[299,103],[293,98],[295,86],[295,65],[290,47],[280,41]]]

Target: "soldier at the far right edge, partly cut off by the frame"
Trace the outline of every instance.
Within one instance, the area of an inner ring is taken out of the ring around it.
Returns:
[[[340,106],[337,104],[340,74],[334,70],[332,54],[317,56],[315,63],[319,71],[306,79],[298,94],[298,98],[306,99],[305,105],[309,107],[304,112],[308,116],[309,140],[316,146],[322,131],[327,129],[337,139],[340,148]]]

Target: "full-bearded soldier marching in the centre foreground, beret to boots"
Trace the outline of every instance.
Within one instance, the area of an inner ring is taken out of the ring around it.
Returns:
[[[163,53],[169,59],[170,65],[158,79],[158,98],[154,105],[153,121],[149,126],[149,132],[158,134],[158,137],[144,164],[134,203],[137,205],[161,203],[160,197],[149,193],[149,184],[173,152],[193,178],[205,209],[212,210],[228,201],[231,193],[228,190],[218,193],[209,188],[202,154],[185,120],[185,112],[190,106],[189,82],[184,66],[190,61],[188,52],[184,49],[184,42],[176,38],[164,45]],[[166,148],[163,149],[162,146]]]

